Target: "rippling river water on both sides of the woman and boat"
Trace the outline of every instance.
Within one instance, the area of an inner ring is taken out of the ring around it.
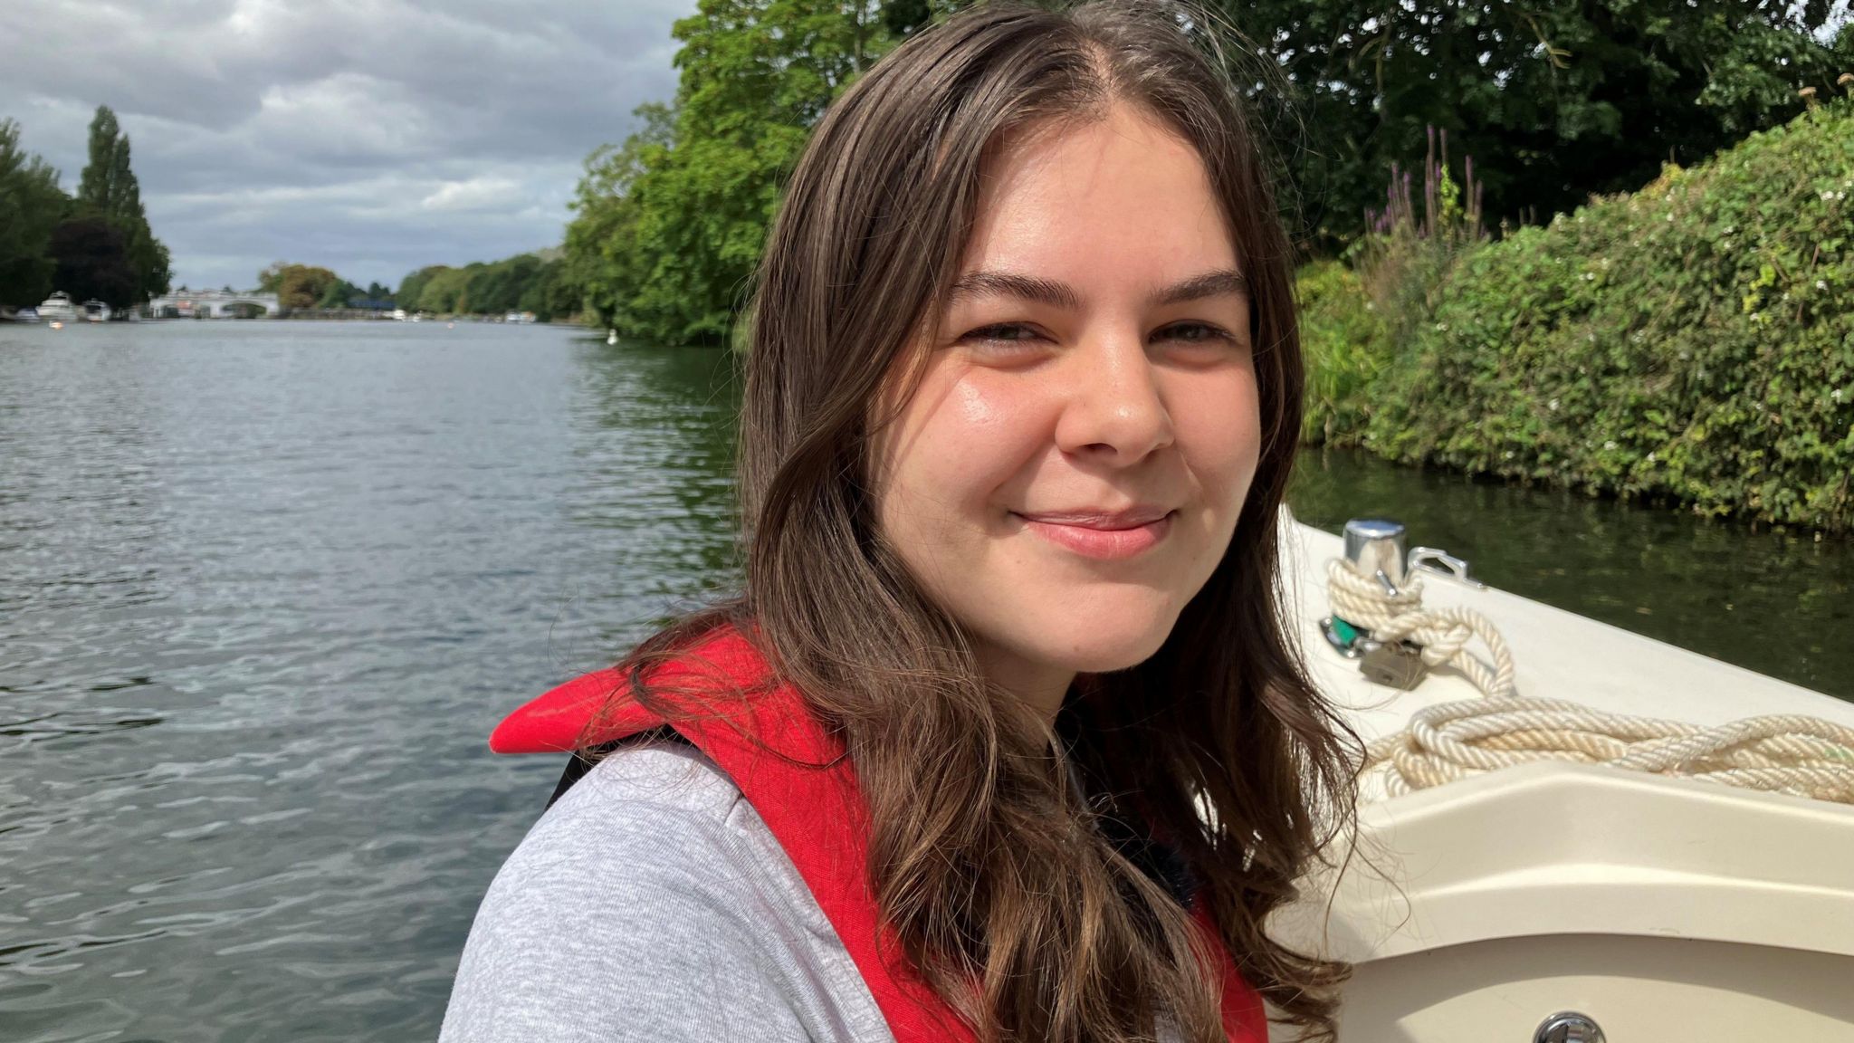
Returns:
[[[729,358],[552,327],[0,327],[0,1039],[438,1030],[517,702],[727,583]],[[1498,586],[1854,698],[1854,547],[1353,455]]]

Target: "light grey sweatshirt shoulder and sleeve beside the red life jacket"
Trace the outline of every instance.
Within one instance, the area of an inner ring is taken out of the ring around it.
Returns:
[[[439,1043],[892,1041],[734,783],[677,742],[612,753],[489,885]]]

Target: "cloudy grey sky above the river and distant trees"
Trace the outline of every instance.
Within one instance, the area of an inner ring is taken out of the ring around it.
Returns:
[[[580,161],[675,91],[695,0],[0,0],[0,117],[74,191],[117,111],[174,286],[397,286],[558,245]]]

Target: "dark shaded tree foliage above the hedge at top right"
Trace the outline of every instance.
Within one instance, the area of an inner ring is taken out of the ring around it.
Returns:
[[[1327,247],[1381,206],[1383,171],[1441,126],[1498,219],[1568,212],[1802,111],[1854,71],[1845,0],[1222,0],[1292,87],[1255,102]],[[1285,104],[1289,102],[1290,104]]]

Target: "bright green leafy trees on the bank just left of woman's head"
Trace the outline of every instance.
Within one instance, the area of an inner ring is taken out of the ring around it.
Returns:
[[[673,106],[586,160],[567,265],[603,325],[717,343],[745,304],[784,174],[812,124],[931,4],[701,0],[675,24]]]

